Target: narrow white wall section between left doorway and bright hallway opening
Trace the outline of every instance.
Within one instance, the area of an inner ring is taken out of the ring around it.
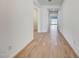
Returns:
[[[48,31],[48,9],[46,7],[40,8],[40,31],[39,32],[47,32]]]

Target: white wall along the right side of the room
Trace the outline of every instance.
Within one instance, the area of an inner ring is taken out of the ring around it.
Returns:
[[[79,56],[79,0],[65,0],[60,31]],[[60,18],[60,17],[59,17]]]

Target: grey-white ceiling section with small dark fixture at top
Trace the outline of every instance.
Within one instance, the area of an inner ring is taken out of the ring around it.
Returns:
[[[62,5],[64,0],[37,0],[40,5]]]

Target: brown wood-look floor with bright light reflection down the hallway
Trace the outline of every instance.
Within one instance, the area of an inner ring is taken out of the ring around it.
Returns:
[[[63,36],[51,28],[50,33],[34,33],[34,40],[17,58],[75,58],[77,57]]]

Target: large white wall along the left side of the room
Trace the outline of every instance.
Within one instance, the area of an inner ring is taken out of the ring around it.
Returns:
[[[0,57],[12,57],[32,41],[32,3],[0,0]]]

